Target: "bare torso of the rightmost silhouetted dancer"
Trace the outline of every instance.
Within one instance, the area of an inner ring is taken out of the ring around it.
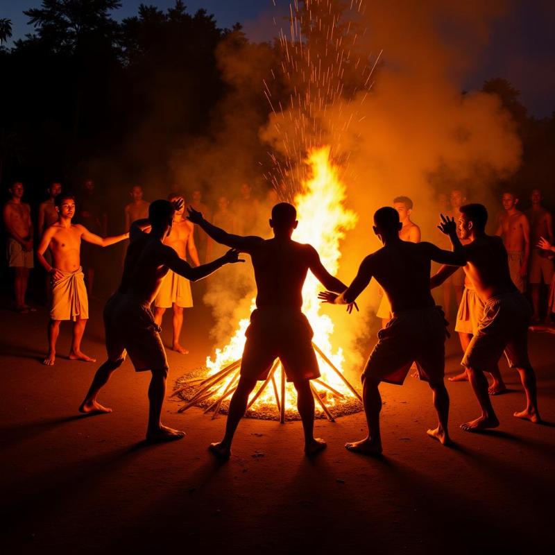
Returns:
[[[484,302],[491,297],[517,291],[511,280],[502,239],[484,235],[464,247],[466,277]]]

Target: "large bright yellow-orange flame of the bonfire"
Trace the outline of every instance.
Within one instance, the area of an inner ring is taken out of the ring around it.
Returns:
[[[293,233],[293,239],[314,246],[320,254],[321,261],[327,271],[335,274],[339,268],[339,259],[341,258],[339,250],[341,239],[345,237],[345,231],[353,228],[357,223],[357,214],[344,206],[345,185],[339,178],[339,168],[330,160],[329,146],[315,148],[310,151],[305,163],[309,166],[309,178],[302,184],[302,192],[294,200],[299,224]],[[306,314],[314,330],[314,343],[332,361],[334,366],[343,372],[343,352],[341,348],[333,351],[330,341],[334,332],[334,323],[329,316],[320,312],[321,304],[317,296],[321,289],[320,282],[309,273],[302,289],[302,311]],[[255,309],[254,299],[251,309]],[[248,323],[248,318],[241,320],[228,345],[216,349],[214,359],[207,357],[206,366],[210,375],[219,372],[228,364],[241,358]],[[318,363],[322,374],[321,381],[344,395],[344,400],[352,398],[350,389],[345,386],[343,380],[320,355],[318,355]],[[219,382],[219,387],[213,390],[212,398],[217,398],[225,391],[229,391],[233,385],[230,384],[230,381],[234,379],[237,379],[237,377],[230,377]],[[328,406],[344,402],[340,396],[334,395],[330,388],[326,388],[317,382],[313,382],[313,386],[318,392],[318,396]],[[296,407],[296,391],[292,384],[287,384],[286,400],[288,408]],[[259,395],[252,408],[256,410],[264,404],[275,404],[275,391],[271,387],[267,387]],[[318,411],[321,410],[320,407],[316,408]]]

